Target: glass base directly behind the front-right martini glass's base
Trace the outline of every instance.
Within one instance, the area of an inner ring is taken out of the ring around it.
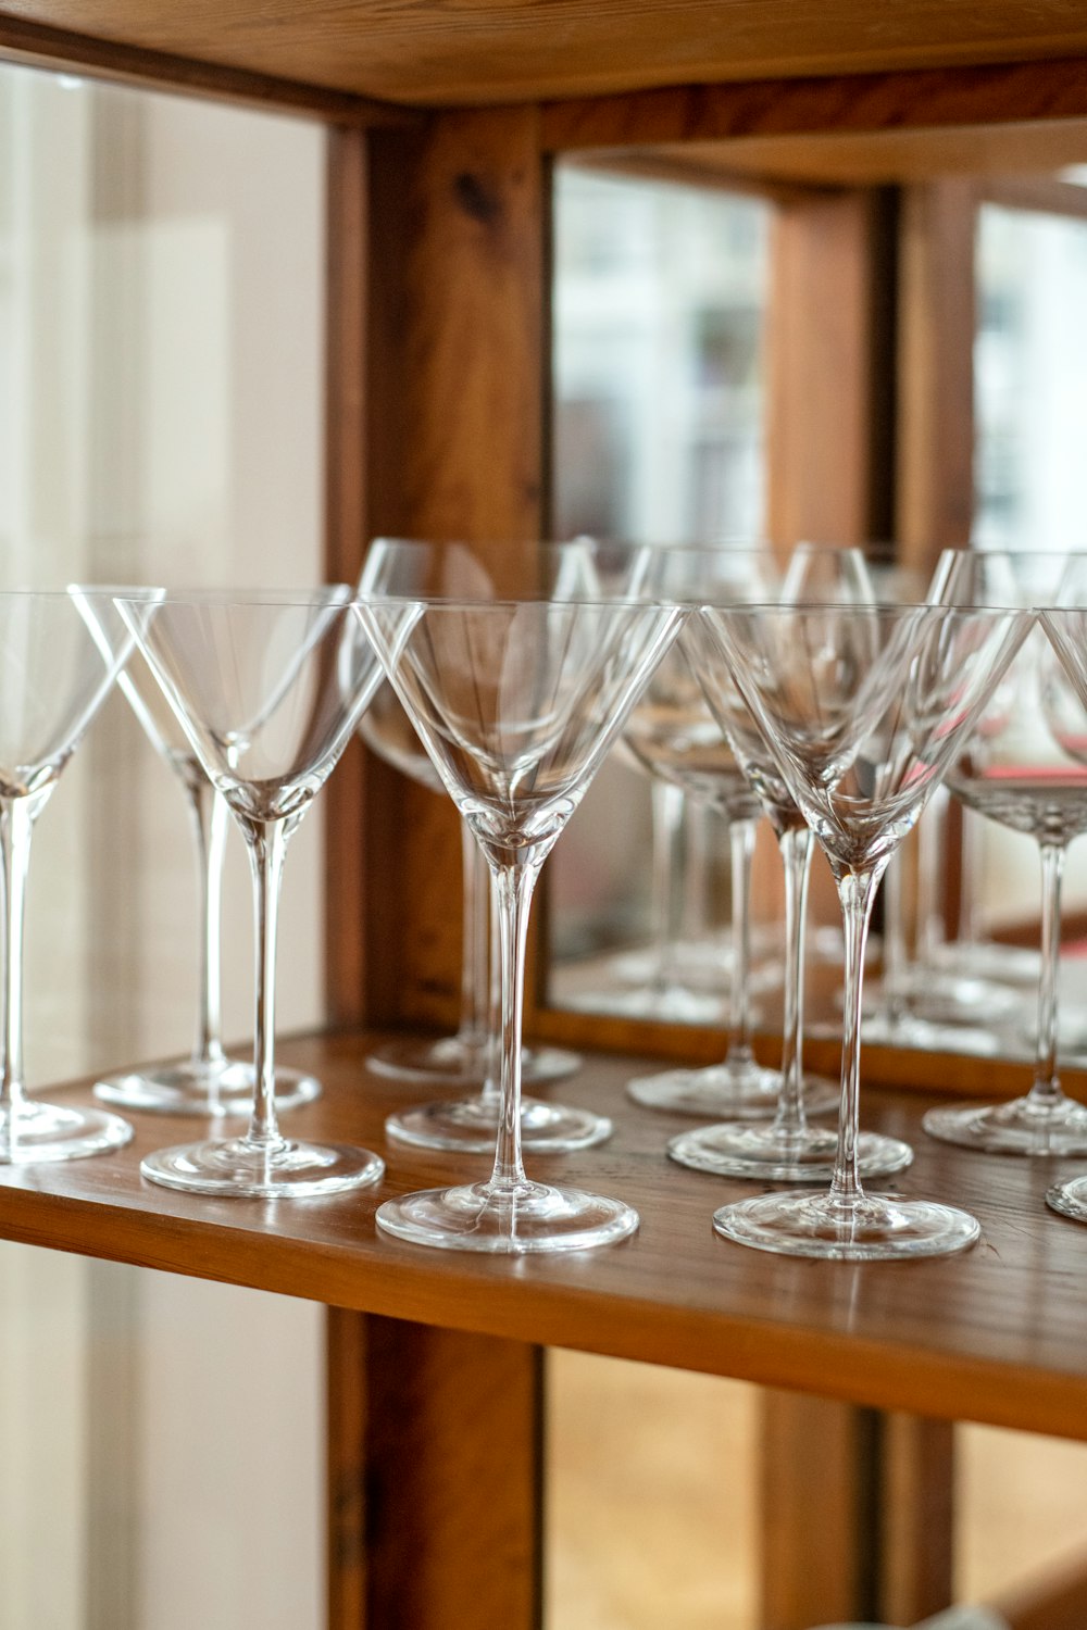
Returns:
[[[777,1126],[722,1123],[684,1131],[668,1143],[668,1154],[680,1165],[717,1177],[755,1177],[774,1183],[830,1182],[834,1175],[838,1133],[807,1126],[799,1133]],[[860,1177],[890,1177],[904,1172],[913,1149],[900,1138],[862,1131],[857,1136]]]

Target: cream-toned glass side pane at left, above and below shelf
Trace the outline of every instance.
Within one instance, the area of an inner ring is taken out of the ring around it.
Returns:
[[[318,126],[0,67],[0,584],[323,577],[323,253]],[[181,784],[116,694],[36,826],[31,1089],[187,1055],[194,864]],[[321,888],[311,820],[285,872],[282,1032],[323,1012]],[[233,835],[223,913],[244,1051]],[[319,1309],[13,1245],[0,1281],[0,1622],[318,1623]]]

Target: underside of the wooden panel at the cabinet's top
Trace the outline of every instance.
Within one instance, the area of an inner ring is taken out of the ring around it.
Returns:
[[[8,0],[0,49],[20,24],[419,106],[1087,55],[1082,0]]]

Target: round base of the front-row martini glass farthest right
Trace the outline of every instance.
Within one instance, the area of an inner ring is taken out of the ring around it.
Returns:
[[[934,1200],[860,1195],[846,1209],[828,1193],[755,1195],[715,1211],[714,1227],[738,1245],[833,1262],[944,1257],[981,1234],[968,1211]]]

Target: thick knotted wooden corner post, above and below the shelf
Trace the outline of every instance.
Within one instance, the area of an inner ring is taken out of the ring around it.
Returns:
[[[381,533],[539,536],[536,111],[334,135],[329,217],[331,569]],[[451,1024],[453,805],[352,755],[326,789],[332,1017]],[[329,1309],[331,1630],[538,1623],[541,1395],[536,1348]]]

